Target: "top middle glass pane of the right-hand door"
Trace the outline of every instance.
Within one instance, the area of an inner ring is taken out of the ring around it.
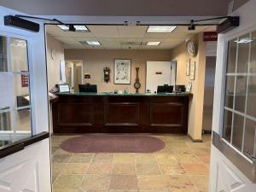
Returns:
[[[249,59],[249,45],[250,35],[247,34],[238,38],[238,58],[237,58],[237,71],[236,73],[247,73],[248,59]]]

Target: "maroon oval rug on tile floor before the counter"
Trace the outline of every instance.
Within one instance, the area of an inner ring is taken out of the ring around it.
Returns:
[[[165,143],[149,136],[82,136],[61,143],[70,153],[153,153],[165,148]]]

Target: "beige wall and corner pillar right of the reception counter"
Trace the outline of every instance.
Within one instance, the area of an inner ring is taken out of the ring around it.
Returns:
[[[172,60],[177,59],[177,84],[192,83],[191,93],[193,97],[189,102],[189,125],[188,134],[195,141],[201,141],[202,130],[202,114],[204,103],[204,88],[205,88],[205,69],[206,69],[206,43],[203,41],[203,34],[197,34],[191,38],[198,48],[198,53],[195,57],[190,56],[186,44],[177,45],[172,49]],[[186,75],[186,63],[195,62],[195,80],[190,80]]]

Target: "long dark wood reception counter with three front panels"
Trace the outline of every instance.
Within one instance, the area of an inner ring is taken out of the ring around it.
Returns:
[[[190,94],[59,93],[54,133],[180,133],[188,131]]]

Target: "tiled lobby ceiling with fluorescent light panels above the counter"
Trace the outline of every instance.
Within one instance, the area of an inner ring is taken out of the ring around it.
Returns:
[[[58,26],[46,26],[46,32],[64,44],[65,49],[172,49],[195,33],[214,31],[215,26],[177,26],[173,32],[147,33],[148,26],[87,26],[90,32],[64,32]],[[83,45],[79,41],[99,41],[102,45]],[[148,41],[160,41],[147,46]],[[131,48],[130,48],[131,47]]]

